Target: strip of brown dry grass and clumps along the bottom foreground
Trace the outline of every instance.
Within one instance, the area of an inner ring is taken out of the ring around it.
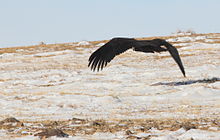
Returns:
[[[136,119],[136,120],[85,120],[72,118],[66,121],[19,121],[7,118],[0,121],[0,128],[9,130],[13,137],[26,135],[47,138],[50,136],[85,136],[102,133],[124,133],[128,139],[150,139],[135,136],[138,133],[150,133],[151,129],[176,131],[184,128],[216,131],[210,128],[220,127],[219,118],[203,119]],[[16,131],[15,131],[16,130]]]

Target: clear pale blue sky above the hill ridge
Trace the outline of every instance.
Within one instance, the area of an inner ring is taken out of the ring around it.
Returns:
[[[220,32],[220,0],[0,0],[0,47]]]

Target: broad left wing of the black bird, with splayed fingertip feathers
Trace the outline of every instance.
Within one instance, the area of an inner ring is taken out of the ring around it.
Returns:
[[[116,55],[119,55],[126,50],[136,45],[137,40],[133,38],[113,38],[105,45],[97,49],[89,57],[89,64],[91,69],[99,71],[103,69]]]

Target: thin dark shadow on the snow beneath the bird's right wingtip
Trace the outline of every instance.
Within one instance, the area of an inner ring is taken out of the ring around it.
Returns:
[[[159,86],[159,85],[182,86],[182,85],[191,85],[195,83],[214,83],[218,81],[220,81],[220,78],[213,77],[213,78],[207,78],[207,79],[187,80],[187,81],[181,81],[181,82],[159,82],[159,83],[152,84],[151,86]]]

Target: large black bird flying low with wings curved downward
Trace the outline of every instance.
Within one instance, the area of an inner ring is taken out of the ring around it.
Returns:
[[[93,71],[102,70],[115,56],[132,48],[134,51],[145,53],[169,51],[183,76],[186,76],[177,49],[164,39],[136,40],[134,38],[113,38],[91,54],[88,67],[91,66],[91,70]]]

